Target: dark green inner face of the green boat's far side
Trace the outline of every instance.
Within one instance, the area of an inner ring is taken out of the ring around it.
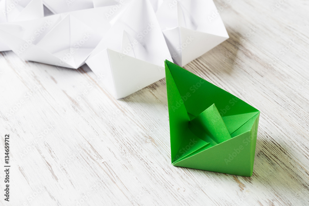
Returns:
[[[258,111],[227,91],[207,82],[180,66],[166,61],[188,113],[197,116],[215,104],[221,116]]]

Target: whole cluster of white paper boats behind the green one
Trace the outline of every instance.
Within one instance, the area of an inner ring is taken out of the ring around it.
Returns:
[[[212,0],[0,0],[0,9],[0,51],[86,63],[117,99],[164,78],[164,60],[184,66],[229,38]]]

